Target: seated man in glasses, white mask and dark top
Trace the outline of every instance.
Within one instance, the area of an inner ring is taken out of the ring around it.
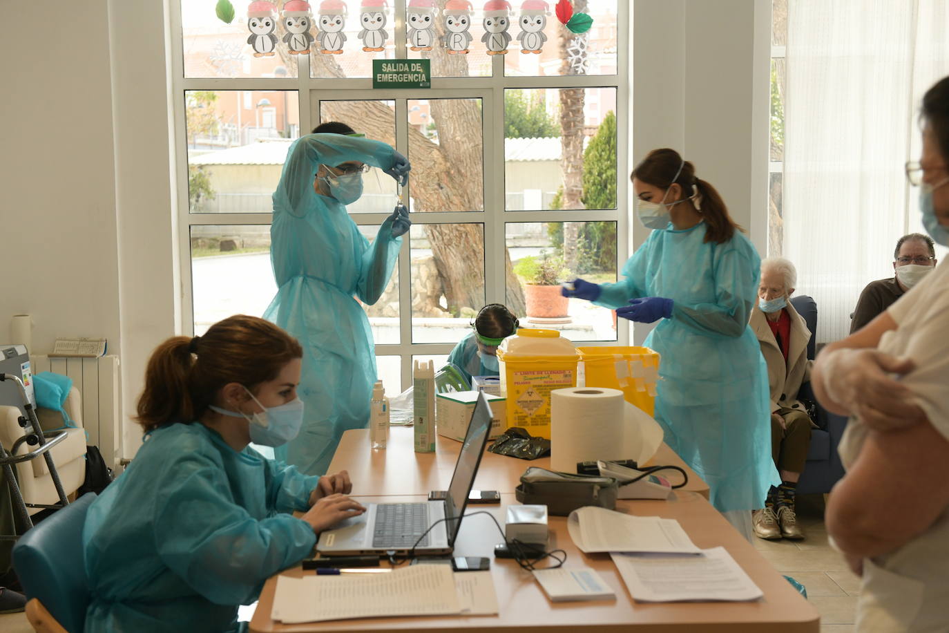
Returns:
[[[850,333],[873,321],[935,268],[936,249],[933,248],[932,237],[922,233],[903,235],[896,243],[896,251],[893,251],[896,276],[871,281],[866,285],[853,311]]]

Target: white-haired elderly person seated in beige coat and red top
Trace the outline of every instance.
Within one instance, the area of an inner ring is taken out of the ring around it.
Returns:
[[[772,456],[781,475],[780,488],[772,486],[765,508],[754,512],[754,533],[766,539],[804,538],[794,513],[794,492],[808,457],[811,421],[797,393],[808,382],[813,362],[808,360],[808,326],[788,301],[796,283],[797,271],[787,259],[761,262],[751,326],[768,363]]]

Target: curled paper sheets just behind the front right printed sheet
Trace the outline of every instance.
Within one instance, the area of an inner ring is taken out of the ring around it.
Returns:
[[[698,554],[698,549],[676,519],[632,516],[586,506],[570,512],[570,538],[582,551],[629,551]]]

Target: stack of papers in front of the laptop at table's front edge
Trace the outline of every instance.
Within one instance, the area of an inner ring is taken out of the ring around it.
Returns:
[[[459,613],[497,613],[490,571],[456,574],[444,565],[415,565],[390,573],[280,576],[271,617],[294,624]]]

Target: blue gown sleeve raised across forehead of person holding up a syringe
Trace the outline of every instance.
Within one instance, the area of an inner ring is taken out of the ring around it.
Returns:
[[[321,164],[335,167],[347,160],[389,169],[395,149],[381,140],[347,137],[342,134],[307,134],[294,140],[287,153],[280,183],[273,193],[273,211],[297,217],[307,214],[315,203],[313,179]]]

